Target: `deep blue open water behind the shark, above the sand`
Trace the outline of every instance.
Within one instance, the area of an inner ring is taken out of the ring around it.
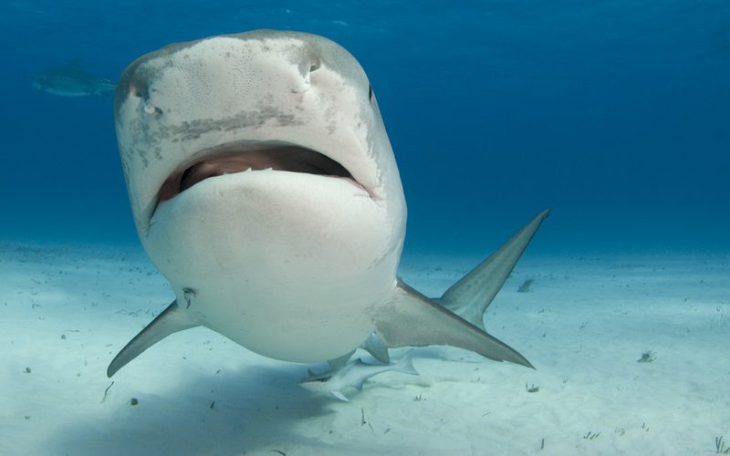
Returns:
[[[136,243],[112,98],[166,44],[255,28],[339,42],[378,95],[409,202],[406,252],[488,253],[544,207],[530,252],[730,250],[726,0],[0,5],[0,240]]]

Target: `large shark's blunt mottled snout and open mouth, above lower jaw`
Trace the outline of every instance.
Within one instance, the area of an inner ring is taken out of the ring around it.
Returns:
[[[137,228],[206,176],[273,168],[336,176],[379,203],[401,182],[369,80],[321,36],[259,30],[138,58],[116,127]]]

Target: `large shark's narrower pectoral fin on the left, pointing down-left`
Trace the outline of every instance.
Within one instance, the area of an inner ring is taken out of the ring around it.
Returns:
[[[172,304],[162,314],[152,320],[149,325],[144,326],[140,334],[131,339],[130,343],[124,346],[119,354],[111,360],[109,368],[107,368],[107,377],[113,376],[125,364],[140,356],[144,350],[163,338],[194,326],[199,325],[180,309],[177,301],[172,301]]]

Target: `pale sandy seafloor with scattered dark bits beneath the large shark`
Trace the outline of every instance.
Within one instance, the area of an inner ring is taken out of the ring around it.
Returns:
[[[401,275],[439,295],[479,260],[410,255]],[[417,348],[419,377],[382,374],[349,403],[297,386],[308,366],[203,328],[106,378],[171,300],[141,249],[0,244],[0,454],[709,454],[730,440],[728,255],[528,251],[486,325],[537,370]]]

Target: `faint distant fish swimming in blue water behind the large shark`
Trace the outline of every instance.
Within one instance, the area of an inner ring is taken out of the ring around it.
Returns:
[[[35,88],[62,97],[87,97],[89,95],[108,95],[117,85],[107,78],[90,75],[81,68],[78,60],[65,67],[48,68],[30,75]]]

